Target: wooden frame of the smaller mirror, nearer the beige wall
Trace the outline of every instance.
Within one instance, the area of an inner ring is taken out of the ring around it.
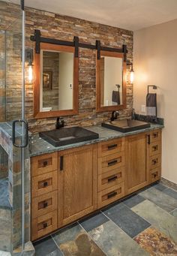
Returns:
[[[124,53],[116,53],[116,52],[108,52],[101,50],[100,56],[107,57],[117,57],[122,59],[123,65],[123,76],[122,76],[122,104],[113,105],[113,106],[104,106],[101,107],[101,59],[98,59],[97,52],[97,65],[96,65],[96,111],[97,112],[106,112],[106,111],[114,111],[114,110],[123,110],[127,107],[127,83],[126,83],[126,71],[127,71],[127,63],[124,61]]]

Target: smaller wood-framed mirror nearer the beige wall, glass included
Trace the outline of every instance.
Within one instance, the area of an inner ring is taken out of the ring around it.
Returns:
[[[126,62],[124,53],[101,50],[96,69],[97,112],[126,107]]]

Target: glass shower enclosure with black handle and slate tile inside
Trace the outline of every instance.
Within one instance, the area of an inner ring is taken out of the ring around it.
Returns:
[[[29,240],[23,5],[0,0],[0,251],[11,254],[15,250],[23,254]]]

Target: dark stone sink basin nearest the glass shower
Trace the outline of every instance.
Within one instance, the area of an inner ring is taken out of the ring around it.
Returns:
[[[42,131],[39,133],[39,136],[53,146],[65,146],[86,140],[98,139],[99,134],[77,126],[52,131]]]

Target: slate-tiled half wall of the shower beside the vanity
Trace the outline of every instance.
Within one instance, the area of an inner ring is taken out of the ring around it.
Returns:
[[[17,128],[18,129],[18,128]],[[20,140],[20,129],[18,129],[16,141]],[[18,143],[18,142],[17,142]],[[22,242],[22,194],[21,194],[21,168],[20,168],[20,148],[13,146],[12,127],[10,123],[0,124],[0,145],[8,155],[8,182],[9,200],[11,205],[11,249],[13,251]],[[26,222],[26,242],[29,241],[30,227],[30,171],[29,171],[28,147],[25,149],[25,222]],[[1,243],[0,243],[1,247]]]

